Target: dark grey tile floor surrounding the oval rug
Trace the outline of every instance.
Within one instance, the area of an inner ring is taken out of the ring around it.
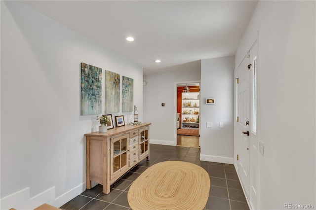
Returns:
[[[86,190],[60,207],[62,210],[129,210],[127,192],[132,182],[148,167],[162,161],[178,160],[204,168],[211,180],[205,210],[249,210],[235,167],[231,164],[199,160],[199,148],[150,145],[150,161],[143,160],[111,185],[111,193],[103,194],[103,186]]]

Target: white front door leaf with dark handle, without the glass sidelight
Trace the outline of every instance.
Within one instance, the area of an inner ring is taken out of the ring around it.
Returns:
[[[238,69],[237,76],[237,123],[236,132],[236,152],[237,152],[237,173],[249,197],[249,120],[250,120],[250,75],[248,70],[249,58],[243,59]]]

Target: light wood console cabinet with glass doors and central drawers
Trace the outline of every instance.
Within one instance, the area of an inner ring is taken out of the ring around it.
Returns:
[[[110,193],[110,185],[120,176],[147,158],[149,160],[149,125],[125,125],[109,129],[107,133],[93,132],[86,137],[86,188],[91,181],[103,185],[103,193]]]

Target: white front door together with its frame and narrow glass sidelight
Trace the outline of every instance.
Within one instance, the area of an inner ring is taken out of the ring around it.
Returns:
[[[257,209],[258,192],[258,124],[257,77],[258,41],[256,40],[235,71],[236,112],[235,165],[252,209]]]

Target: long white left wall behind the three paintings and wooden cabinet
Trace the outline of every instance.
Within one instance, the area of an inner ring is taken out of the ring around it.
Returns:
[[[103,79],[104,70],[133,78],[143,112],[140,66],[24,3],[1,1],[0,209],[59,207],[85,190],[83,134],[97,125],[95,115],[80,116],[81,62],[102,68]]]

